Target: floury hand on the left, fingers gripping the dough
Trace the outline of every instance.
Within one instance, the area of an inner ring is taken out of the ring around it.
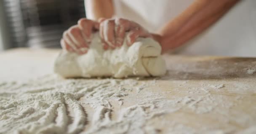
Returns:
[[[92,33],[99,31],[99,23],[82,18],[78,24],[63,33],[61,46],[68,52],[86,54],[92,39]]]

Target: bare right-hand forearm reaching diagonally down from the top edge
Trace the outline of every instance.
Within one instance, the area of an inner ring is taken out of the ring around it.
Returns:
[[[239,0],[195,0],[153,37],[160,42],[163,52],[174,49],[215,23],[237,1]]]

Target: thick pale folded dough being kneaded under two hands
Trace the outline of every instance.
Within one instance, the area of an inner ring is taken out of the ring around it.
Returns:
[[[160,44],[151,38],[139,38],[130,47],[124,43],[120,48],[104,50],[99,33],[94,33],[87,54],[62,50],[54,72],[62,77],[161,76],[165,75],[166,67],[160,54]]]

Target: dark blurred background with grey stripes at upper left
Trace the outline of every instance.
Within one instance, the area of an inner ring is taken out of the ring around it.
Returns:
[[[0,0],[0,51],[58,48],[62,33],[83,17],[84,0]]]

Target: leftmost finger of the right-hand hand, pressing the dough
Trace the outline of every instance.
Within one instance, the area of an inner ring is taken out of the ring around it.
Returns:
[[[115,48],[115,21],[104,21],[103,26],[104,41],[107,42],[111,48]]]

